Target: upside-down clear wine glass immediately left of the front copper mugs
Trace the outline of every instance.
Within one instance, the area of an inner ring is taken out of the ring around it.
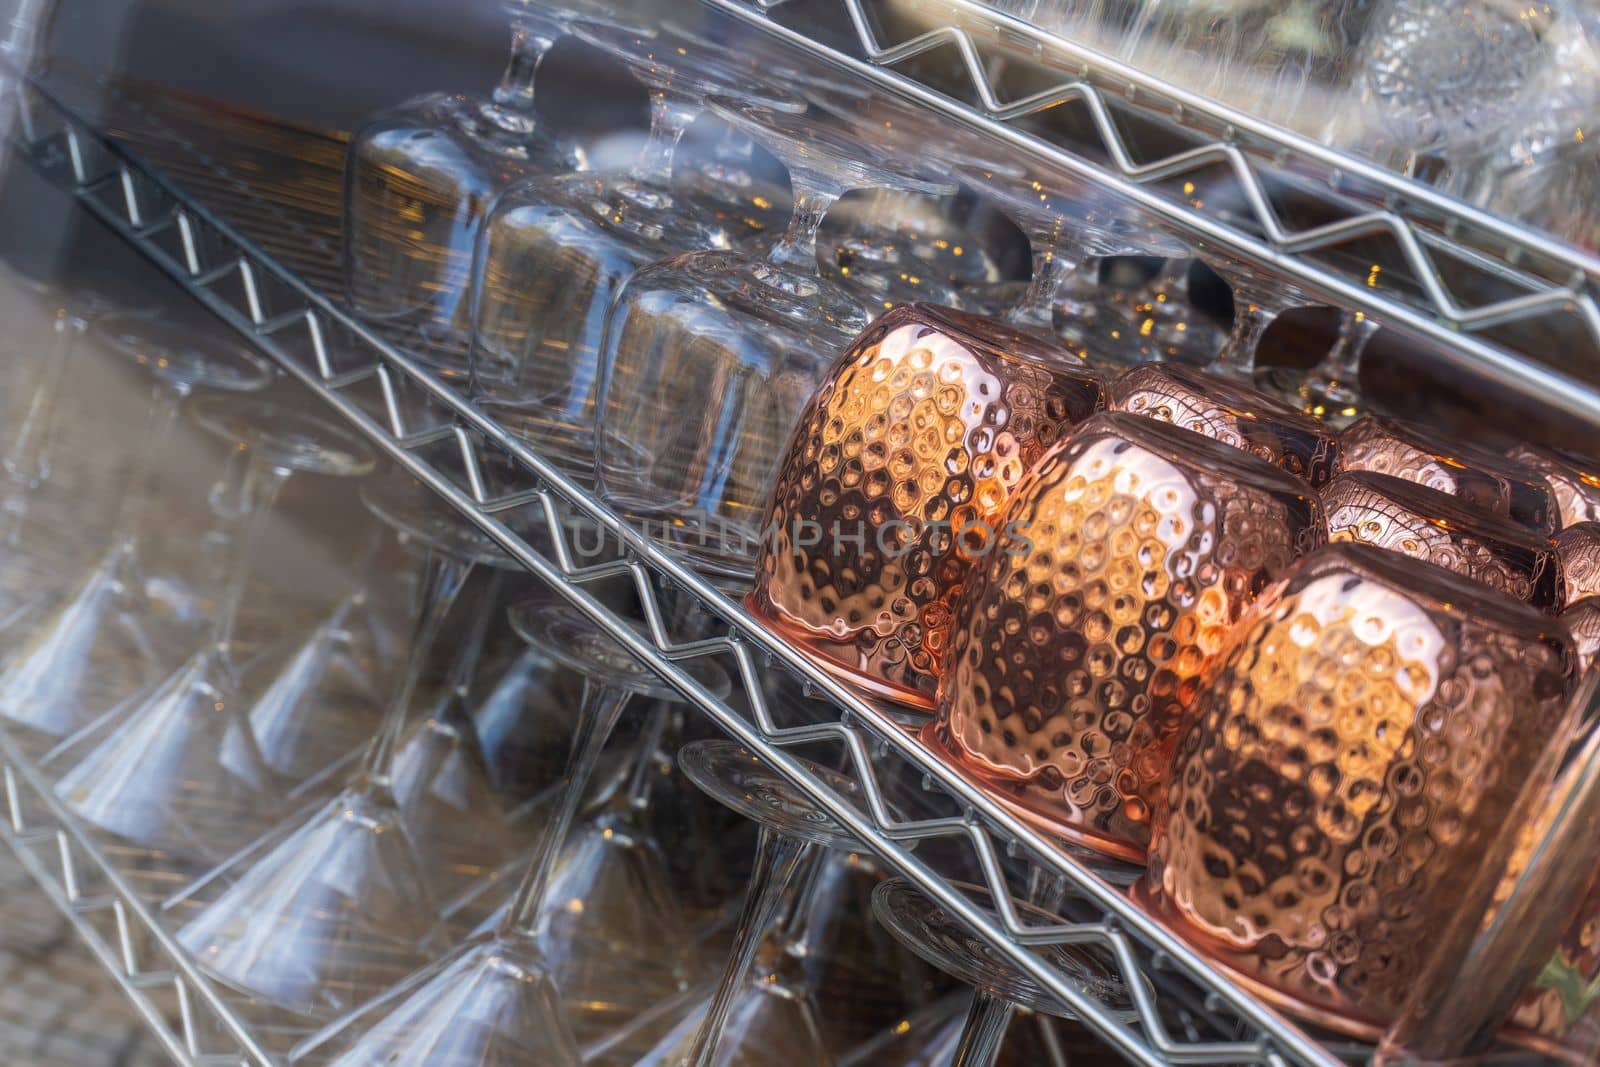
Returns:
[[[667,547],[747,582],[784,445],[826,368],[870,322],[856,294],[819,274],[822,216],[856,187],[952,186],[866,147],[819,109],[728,98],[712,107],[789,168],[794,218],[765,258],[691,253],[627,280],[606,322],[597,474],[602,496]]]

